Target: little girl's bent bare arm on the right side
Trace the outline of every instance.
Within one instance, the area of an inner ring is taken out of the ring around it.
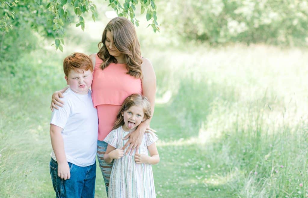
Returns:
[[[148,146],[148,150],[150,156],[138,153],[135,154],[135,161],[137,164],[158,164],[160,159],[155,142]]]

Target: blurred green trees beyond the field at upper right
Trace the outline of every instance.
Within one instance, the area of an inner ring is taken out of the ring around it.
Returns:
[[[306,46],[307,1],[171,0],[158,4],[163,26],[184,40]]]

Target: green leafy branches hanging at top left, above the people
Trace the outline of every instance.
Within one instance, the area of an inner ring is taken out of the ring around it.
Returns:
[[[139,26],[135,17],[136,6],[141,4],[141,14],[146,12],[147,21],[152,23],[154,32],[159,31],[154,0],[106,0],[118,16],[130,18],[131,22]],[[77,17],[76,27],[84,30],[85,13],[91,12],[95,21],[98,17],[95,4],[91,0],[0,0],[0,34],[2,38],[14,26],[27,23],[38,32],[53,35],[55,47],[63,51],[65,25],[72,23]],[[1,46],[0,46],[1,47]]]

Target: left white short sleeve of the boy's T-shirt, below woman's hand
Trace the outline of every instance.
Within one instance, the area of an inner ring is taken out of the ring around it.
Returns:
[[[71,114],[71,105],[69,102],[65,101],[65,105],[63,107],[59,107],[59,109],[54,109],[51,114],[50,124],[56,125],[64,129],[67,119]]]

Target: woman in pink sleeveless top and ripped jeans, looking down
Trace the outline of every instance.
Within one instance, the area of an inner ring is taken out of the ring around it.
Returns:
[[[91,58],[94,66],[92,100],[97,108],[99,119],[97,157],[108,192],[112,163],[107,164],[104,161],[103,155],[106,152],[107,143],[103,139],[112,130],[123,101],[132,93],[140,93],[148,98],[153,115],[156,76],[151,62],[141,57],[134,25],[124,17],[111,19],[103,31],[99,52],[92,54]],[[66,89],[52,95],[52,110],[58,108],[56,105],[62,106],[60,97]],[[132,149],[138,152],[149,123],[150,120],[144,121],[136,131],[124,137],[124,139],[129,138],[123,147],[123,149],[128,147],[126,154],[129,151],[132,152]]]

